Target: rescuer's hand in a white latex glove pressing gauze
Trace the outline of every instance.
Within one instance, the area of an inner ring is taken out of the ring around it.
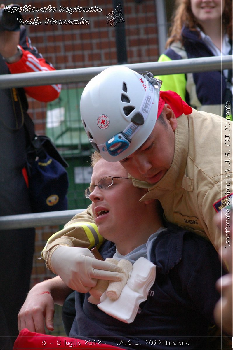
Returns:
[[[66,285],[77,292],[87,293],[97,279],[119,281],[120,266],[97,260],[87,248],[60,246],[50,258],[50,266]]]

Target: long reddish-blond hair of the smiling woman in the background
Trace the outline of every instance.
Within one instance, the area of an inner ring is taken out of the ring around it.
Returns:
[[[232,40],[232,0],[225,0],[224,11],[222,13],[222,25],[225,33]],[[202,26],[196,20],[191,9],[191,0],[176,0],[176,9],[172,16],[172,25],[169,30],[169,38],[165,47],[168,48],[173,42],[180,41],[183,43],[181,35],[182,27],[185,26],[190,30],[197,31],[197,26],[202,30]],[[199,33],[199,32],[198,32]]]

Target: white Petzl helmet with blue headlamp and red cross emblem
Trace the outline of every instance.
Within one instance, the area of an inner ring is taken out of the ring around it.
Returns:
[[[92,146],[109,162],[135,152],[149,137],[158,112],[161,81],[149,72],[112,66],[83,90],[80,112]]]

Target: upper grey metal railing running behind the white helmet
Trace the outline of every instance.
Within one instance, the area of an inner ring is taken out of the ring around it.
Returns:
[[[177,59],[168,62],[145,62],[125,64],[133,70],[146,70],[154,75],[190,73],[232,69],[233,56],[214,56]],[[61,69],[49,72],[17,73],[0,76],[0,89],[10,87],[39,86],[57,83],[77,83],[89,81],[109,66]],[[112,82],[114,83],[114,82]]]

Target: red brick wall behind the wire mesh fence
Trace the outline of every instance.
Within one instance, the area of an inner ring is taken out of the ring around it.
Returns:
[[[123,4],[123,1],[122,1]],[[75,7],[74,0],[24,0],[21,6],[56,8],[55,12],[22,12],[25,20],[39,17],[41,25],[26,25],[32,44],[56,69],[71,69],[117,64],[115,27],[107,25],[105,16],[113,10],[112,1],[78,1],[79,7],[102,7],[101,12],[59,12],[60,6]],[[154,0],[124,1],[128,63],[158,59],[156,11]],[[78,20],[84,17],[89,25],[44,25],[46,18]],[[29,99],[29,113],[38,133],[44,133],[46,104]]]

